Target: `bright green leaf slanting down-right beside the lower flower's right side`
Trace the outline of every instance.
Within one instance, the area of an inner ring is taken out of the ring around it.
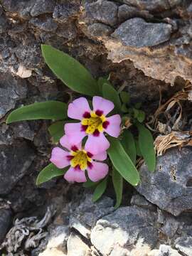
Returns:
[[[121,174],[126,181],[131,183],[133,186],[137,186],[139,183],[139,173],[132,160],[124,151],[119,139],[115,139],[113,137],[108,137],[108,139],[110,141],[110,149],[108,149],[108,154],[114,168],[119,171],[119,174]]]

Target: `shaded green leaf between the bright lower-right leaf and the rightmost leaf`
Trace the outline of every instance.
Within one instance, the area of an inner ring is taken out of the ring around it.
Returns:
[[[136,162],[136,147],[134,143],[134,137],[132,132],[125,130],[122,134],[121,140],[122,146],[124,147],[125,152],[129,155],[132,162]]]

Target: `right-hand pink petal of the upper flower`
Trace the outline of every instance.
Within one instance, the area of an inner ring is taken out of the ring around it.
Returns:
[[[122,122],[119,114],[114,114],[112,117],[107,117],[107,121],[110,122],[110,124],[105,129],[105,132],[107,132],[107,134],[110,134],[110,136],[112,137],[119,137],[119,134],[121,132],[120,124]]]

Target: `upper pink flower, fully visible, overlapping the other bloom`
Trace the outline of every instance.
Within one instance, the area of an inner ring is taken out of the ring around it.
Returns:
[[[87,151],[98,154],[110,147],[104,132],[112,137],[119,137],[121,117],[119,114],[107,117],[107,114],[114,108],[110,100],[95,96],[92,98],[92,106],[93,110],[90,110],[85,97],[80,97],[70,103],[68,117],[78,119],[80,122],[65,124],[65,134],[72,144],[78,144],[85,136],[88,136]]]

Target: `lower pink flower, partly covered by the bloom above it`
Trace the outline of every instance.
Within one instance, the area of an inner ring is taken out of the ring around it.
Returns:
[[[69,166],[64,175],[67,181],[87,181],[85,170],[87,170],[90,180],[94,182],[100,181],[107,175],[109,167],[107,164],[99,162],[107,159],[106,151],[100,154],[93,154],[92,151],[87,150],[87,144],[85,144],[85,148],[81,144],[70,144],[66,135],[60,139],[60,144],[68,151],[55,147],[52,150],[50,161],[59,169]]]

